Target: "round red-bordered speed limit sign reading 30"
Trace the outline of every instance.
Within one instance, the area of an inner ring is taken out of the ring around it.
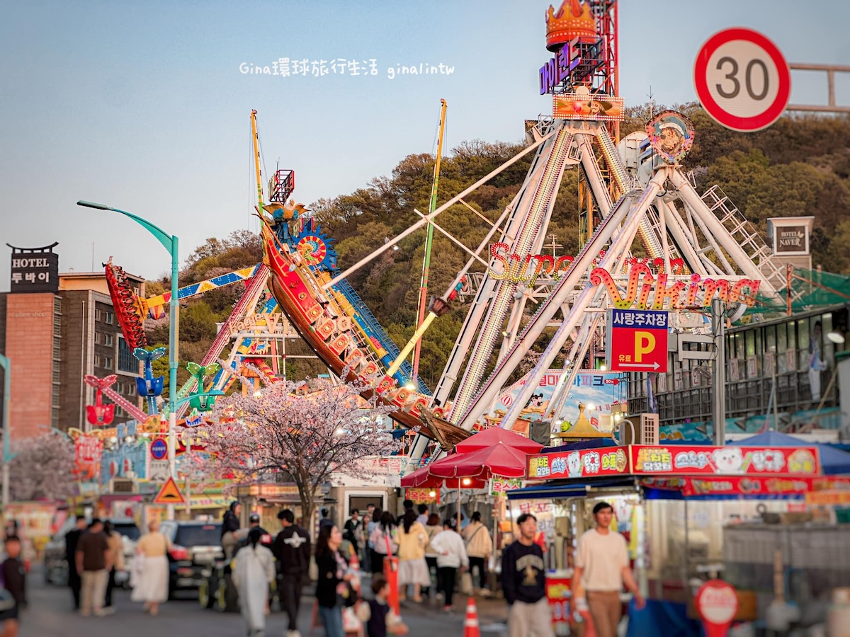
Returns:
[[[703,108],[734,131],[774,123],[791,95],[791,71],[779,48],[750,29],[711,36],[694,64],[694,86]]]

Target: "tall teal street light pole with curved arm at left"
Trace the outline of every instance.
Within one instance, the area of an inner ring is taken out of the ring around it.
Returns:
[[[91,201],[77,201],[77,206],[85,206],[94,208],[95,210],[111,210],[120,212],[125,217],[130,217],[134,222],[144,226],[144,228],[156,237],[162,246],[171,255],[171,300],[168,306],[168,472],[172,477],[177,476],[176,466],[174,463],[176,451],[176,431],[177,431],[177,409],[175,402],[177,400],[177,366],[178,366],[178,299],[177,299],[177,284],[178,284],[178,245],[179,241],[173,234],[167,234],[161,228],[147,219],[138,217],[132,212],[119,210],[104,204],[96,204]],[[174,519],[174,505],[168,505],[167,518]]]

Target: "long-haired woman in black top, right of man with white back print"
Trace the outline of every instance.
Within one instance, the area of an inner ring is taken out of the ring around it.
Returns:
[[[343,606],[346,600],[354,604],[354,589],[350,583],[354,575],[348,572],[348,562],[339,552],[341,544],[343,533],[336,525],[321,527],[316,540],[315,559],[319,570],[316,600],[326,637],[345,637]]]

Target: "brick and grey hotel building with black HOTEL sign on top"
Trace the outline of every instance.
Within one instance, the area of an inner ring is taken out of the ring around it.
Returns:
[[[117,375],[112,388],[142,405],[135,384],[142,368],[124,343],[105,273],[59,273],[54,246],[13,248],[11,291],[0,293],[12,440],[50,427],[88,430],[85,406],[94,404],[94,389],[83,379],[89,374]],[[127,276],[144,295],[144,279]],[[125,420],[129,416],[116,408],[114,423]]]

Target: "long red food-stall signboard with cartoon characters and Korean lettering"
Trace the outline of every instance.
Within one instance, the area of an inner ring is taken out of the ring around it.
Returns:
[[[700,445],[627,445],[581,449],[553,454],[530,454],[527,476],[540,478],[591,478],[600,476],[753,476],[775,478],[790,476],[814,478],[820,475],[820,458],[816,447],[711,447]],[[725,482],[725,481],[719,481]],[[718,485],[719,486],[719,482]],[[804,481],[803,481],[804,482]],[[787,481],[783,488],[802,488]],[[776,482],[769,482],[777,488]],[[659,483],[660,484],[660,483]],[[673,482],[665,482],[673,488]],[[755,488],[756,481],[738,481],[737,488]],[[820,488],[823,482],[817,483]],[[829,483],[826,483],[829,484]],[[815,482],[812,482],[812,488]],[[701,484],[700,488],[710,488]],[[733,482],[729,482],[734,493]],[[768,488],[768,484],[759,489]]]

